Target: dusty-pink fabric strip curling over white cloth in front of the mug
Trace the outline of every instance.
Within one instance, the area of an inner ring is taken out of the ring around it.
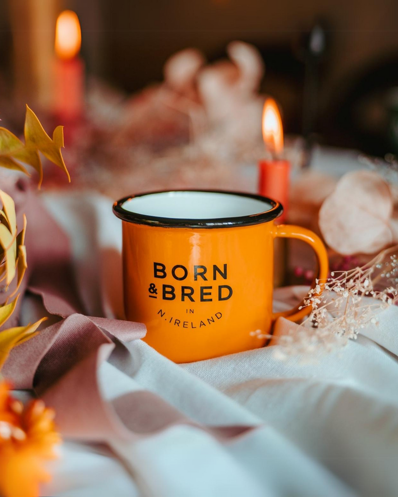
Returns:
[[[100,327],[123,341],[145,335],[141,324],[73,314],[13,349],[3,374],[18,389],[34,388],[56,410],[57,425],[64,436],[92,441],[134,440],[178,423],[199,426],[147,391],[130,392],[112,404],[106,403],[97,371],[114,344]],[[241,435],[251,426],[203,429],[223,440]]]

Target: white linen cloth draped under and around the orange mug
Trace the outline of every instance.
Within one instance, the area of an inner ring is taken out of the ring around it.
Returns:
[[[122,288],[112,202],[85,193],[45,202],[71,238],[88,313],[113,317]],[[278,290],[278,307],[292,296]],[[278,361],[274,346],[177,365],[141,340],[118,345],[100,367],[108,400],[149,390],[200,423],[257,427],[227,443],[187,425],[109,448],[66,440],[41,495],[396,496],[398,308],[379,321],[305,366]]]

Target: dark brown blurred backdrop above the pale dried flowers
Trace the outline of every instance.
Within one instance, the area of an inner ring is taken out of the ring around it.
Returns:
[[[261,91],[280,103],[287,133],[372,155],[398,152],[396,0],[3,0],[2,101],[32,98],[34,77],[27,89],[18,73],[32,50],[45,60],[43,40],[54,38],[62,9],[80,19],[87,74],[126,94],[160,82],[181,49],[196,47],[211,62],[242,40],[264,59]]]

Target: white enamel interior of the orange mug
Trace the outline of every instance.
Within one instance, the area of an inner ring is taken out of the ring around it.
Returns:
[[[218,219],[250,216],[272,209],[266,200],[230,193],[170,191],[133,197],[122,204],[128,212],[172,219]]]

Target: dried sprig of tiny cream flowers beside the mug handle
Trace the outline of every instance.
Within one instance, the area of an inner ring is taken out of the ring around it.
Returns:
[[[275,338],[279,346],[274,356],[286,360],[300,355],[301,362],[308,362],[315,353],[335,351],[367,326],[377,326],[378,313],[398,302],[397,254],[398,246],[388,248],[362,267],[334,271],[330,278],[316,280],[300,307],[309,307],[309,316]]]

